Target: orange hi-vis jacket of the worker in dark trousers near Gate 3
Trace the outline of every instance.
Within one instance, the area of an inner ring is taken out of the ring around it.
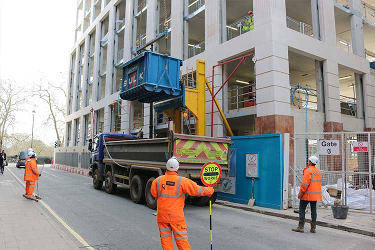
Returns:
[[[321,200],[321,173],[315,166],[306,166],[303,169],[303,177],[299,193],[302,200]]]

